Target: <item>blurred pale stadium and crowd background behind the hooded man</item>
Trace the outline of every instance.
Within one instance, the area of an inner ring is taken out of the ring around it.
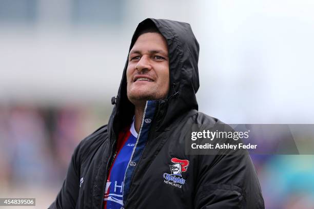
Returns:
[[[147,17],[191,24],[200,111],[226,123],[314,123],[311,0],[0,0],[0,197],[54,200],[75,146],[107,123]],[[313,155],[252,158],[266,208],[314,208]]]

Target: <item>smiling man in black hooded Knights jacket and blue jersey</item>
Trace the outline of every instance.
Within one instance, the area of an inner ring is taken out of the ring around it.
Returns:
[[[108,125],[75,149],[50,208],[264,208],[248,155],[186,155],[198,112],[199,44],[189,24],[145,19],[132,37]]]

